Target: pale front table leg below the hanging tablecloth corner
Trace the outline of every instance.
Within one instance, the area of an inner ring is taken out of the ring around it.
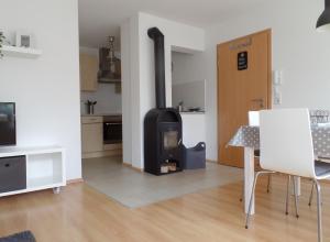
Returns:
[[[244,147],[244,211],[249,211],[249,202],[254,180],[254,148]],[[254,215],[254,196],[252,199],[251,215]]]

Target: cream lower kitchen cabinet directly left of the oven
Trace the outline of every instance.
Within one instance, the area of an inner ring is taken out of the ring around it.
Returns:
[[[81,118],[82,154],[103,151],[103,119],[102,117]]]

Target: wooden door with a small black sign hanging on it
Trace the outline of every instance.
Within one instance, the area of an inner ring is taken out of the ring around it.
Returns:
[[[248,112],[271,108],[271,30],[218,45],[218,161],[243,167],[243,148],[226,147]]]

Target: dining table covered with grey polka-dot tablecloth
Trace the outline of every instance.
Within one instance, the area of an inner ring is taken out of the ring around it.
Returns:
[[[330,123],[311,124],[314,153],[316,160],[330,163]],[[285,138],[284,138],[285,139]],[[242,125],[234,133],[227,146],[244,148],[244,211],[249,211],[249,202],[254,180],[254,151],[260,150],[260,127]],[[300,178],[296,180],[300,194]],[[254,196],[251,215],[254,215]]]

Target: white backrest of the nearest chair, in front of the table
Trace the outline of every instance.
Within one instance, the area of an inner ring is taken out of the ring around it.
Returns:
[[[260,142],[262,168],[316,177],[308,109],[261,111]]]

